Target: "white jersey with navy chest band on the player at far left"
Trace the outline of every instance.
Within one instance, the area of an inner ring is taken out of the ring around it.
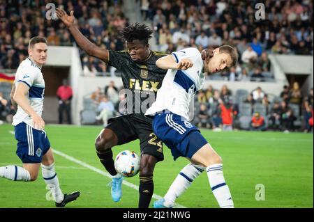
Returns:
[[[29,104],[31,104],[31,107],[36,111],[38,116],[41,116],[43,113],[45,81],[40,67],[30,58],[25,59],[19,65],[19,68],[17,68],[14,83],[15,86],[17,86],[17,84],[26,84],[29,86]],[[20,106],[17,106],[17,112],[15,116],[13,116],[12,125],[16,126],[20,122],[25,122],[27,125],[34,127],[31,117],[25,113]]]

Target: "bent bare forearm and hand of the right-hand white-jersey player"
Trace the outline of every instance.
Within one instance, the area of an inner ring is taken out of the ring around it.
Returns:
[[[178,63],[173,55],[167,55],[161,58],[158,58],[156,65],[163,70],[187,70],[193,66],[192,61],[188,58],[182,58]]]

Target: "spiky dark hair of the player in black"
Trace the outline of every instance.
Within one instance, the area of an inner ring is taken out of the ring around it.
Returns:
[[[147,45],[153,31],[145,24],[135,23],[126,26],[120,31],[122,40],[125,42],[133,42],[140,40],[144,45]]]

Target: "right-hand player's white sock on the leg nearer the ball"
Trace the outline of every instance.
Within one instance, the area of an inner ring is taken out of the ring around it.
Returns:
[[[190,187],[190,184],[195,180],[196,177],[204,171],[204,167],[188,164],[186,165],[181,172],[177,175],[177,178],[172,182],[170,188],[165,194],[165,203],[166,207],[172,207],[175,200],[181,196],[184,191]]]

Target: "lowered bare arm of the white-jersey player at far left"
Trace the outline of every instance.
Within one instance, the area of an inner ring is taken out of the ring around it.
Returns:
[[[20,83],[17,84],[13,101],[15,101],[31,118],[33,119],[33,124],[36,129],[42,130],[45,129],[44,120],[38,116],[36,111],[33,110],[31,105],[29,104],[29,100],[27,100],[27,93],[29,93],[29,86],[26,84]]]

